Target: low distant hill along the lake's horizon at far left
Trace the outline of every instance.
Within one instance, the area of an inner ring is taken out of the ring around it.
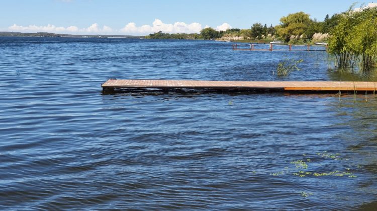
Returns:
[[[143,38],[144,36],[133,35],[70,35],[55,34],[48,32],[23,33],[23,32],[0,32],[0,37],[90,37],[90,38]]]

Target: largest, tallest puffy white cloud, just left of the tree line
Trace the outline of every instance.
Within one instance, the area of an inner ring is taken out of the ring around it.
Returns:
[[[165,24],[159,19],[155,19],[151,25],[136,26],[130,22],[123,27],[120,32],[125,34],[150,34],[158,31],[165,33],[199,33],[202,30],[200,23],[186,24],[184,22],[175,22],[174,24]]]

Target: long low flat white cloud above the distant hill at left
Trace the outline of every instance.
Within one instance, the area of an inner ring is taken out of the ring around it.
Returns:
[[[76,26],[69,26],[65,27],[56,27],[55,25],[48,24],[47,26],[36,26],[36,25],[29,25],[29,26],[19,26],[17,24],[13,24],[12,26],[8,27],[9,30],[15,32],[51,32],[51,33],[76,33],[76,32],[85,32],[89,34],[96,34],[96,33],[109,33],[113,32],[113,29],[108,26],[100,26],[96,24],[92,24],[88,28],[78,29]]]

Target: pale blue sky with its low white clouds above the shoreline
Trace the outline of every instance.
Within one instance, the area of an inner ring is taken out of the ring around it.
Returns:
[[[305,12],[323,21],[346,11],[354,0],[0,0],[0,31],[64,34],[148,35],[199,33],[212,27],[248,29],[279,24]],[[355,7],[362,3],[358,2]]]

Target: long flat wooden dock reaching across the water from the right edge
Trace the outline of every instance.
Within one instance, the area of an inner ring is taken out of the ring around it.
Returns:
[[[273,90],[273,91],[372,91],[373,81],[206,81],[206,80],[134,80],[109,79],[102,85],[104,92],[116,89],[212,89],[212,90]]]

